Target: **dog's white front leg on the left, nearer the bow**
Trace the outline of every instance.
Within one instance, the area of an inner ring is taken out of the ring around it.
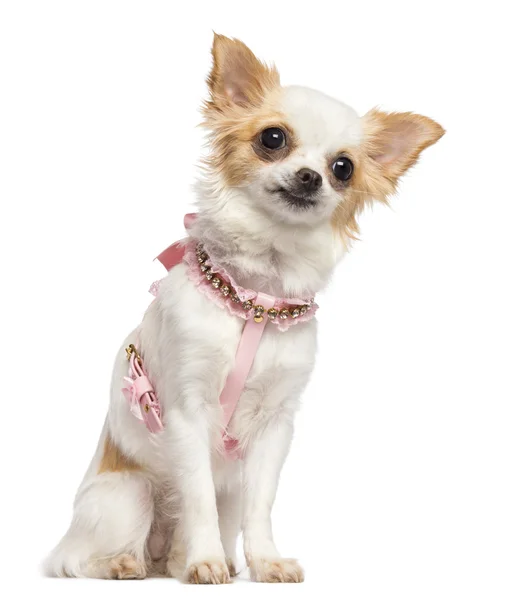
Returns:
[[[181,408],[169,411],[166,433],[180,499],[179,527],[186,547],[184,578],[189,583],[228,583],[230,576],[220,539],[206,411],[186,412]]]

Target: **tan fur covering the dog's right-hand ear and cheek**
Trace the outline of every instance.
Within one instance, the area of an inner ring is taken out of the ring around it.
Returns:
[[[412,167],[420,153],[437,142],[444,129],[428,117],[413,113],[384,113],[377,109],[363,117],[364,141],[350,148],[355,169],[344,201],[336,208],[332,222],[343,238],[355,239],[357,216],[367,204],[388,203],[399,178]]]

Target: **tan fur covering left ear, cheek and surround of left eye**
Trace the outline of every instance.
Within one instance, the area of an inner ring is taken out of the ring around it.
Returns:
[[[296,146],[296,138],[277,109],[276,68],[259,61],[239,40],[222,35],[215,35],[212,54],[211,99],[203,108],[204,126],[211,131],[207,164],[227,185],[238,186],[250,180],[265,160],[285,158]],[[268,127],[281,127],[289,140],[283,151],[269,157],[255,151],[261,131]]]

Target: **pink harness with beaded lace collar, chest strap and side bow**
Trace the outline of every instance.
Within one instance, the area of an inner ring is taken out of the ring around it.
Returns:
[[[184,224],[189,229],[197,218],[196,214],[185,216]],[[263,292],[246,290],[236,285],[231,277],[221,269],[207,265],[209,256],[199,250],[196,242],[185,238],[166,248],[157,259],[170,271],[176,265],[186,262],[190,279],[220,306],[226,306],[231,314],[246,320],[235,365],[230,371],[220,395],[223,408],[223,443],[229,458],[239,458],[238,442],[229,437],[227,429],[239,398],[244,390],[246,379],[255,360],[263,332],[269,321],[281,331],[314,316],[318,305],[313,301],[279,299]],[[151,286],[156,295],[159,282]],[[132,413],[143,420],[151,433],[163,430],[160,404],[143,368],[141,357],[133,344],[127,348],[130,361],[129,376],[125,377],[123,393],[130,402]]]

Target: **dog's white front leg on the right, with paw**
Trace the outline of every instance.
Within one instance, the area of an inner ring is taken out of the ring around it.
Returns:
[[[281,558],[274,545],[271,509],[293,426],[291,419],[270,423],[247,449],[244,463],[244,552],[255,581],[299,583],[296,560]]]

